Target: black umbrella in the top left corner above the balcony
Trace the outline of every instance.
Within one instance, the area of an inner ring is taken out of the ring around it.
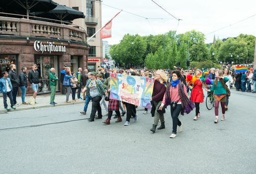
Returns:
[[[52,0],[0,0],[0,6],[6,10],[24,11],[28,18],[29,11],[49,11],[57,6]]]

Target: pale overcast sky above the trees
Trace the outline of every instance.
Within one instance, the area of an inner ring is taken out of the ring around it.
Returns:
[[[102,25],[120,11],[107,5],[146,18],[163,18],[145,19],[122,11],[113,20],[112,38],[104,40],[107,40],[109,44],[118,44],[127,33],[145,36],[176,30],[177,34],[180,34],[193,29],[205,34],[205,43],[212,43],[214,34],[216,39],[236,37],[241,33],[256,36],[256,0],[154,1],[176,18],[182,19],[179,24],[177,19],[157,6],[152,0],[103,0]],[[253,17],[248,18],[250,16]],[[243,19],[246,20],[241,21]],[[221,29],[223,27],[226,28]]]

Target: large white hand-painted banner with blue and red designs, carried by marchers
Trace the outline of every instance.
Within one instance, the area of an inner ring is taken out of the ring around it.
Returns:
[[[110,98],[150,108],[154,80],[139,76],[110,75]]]

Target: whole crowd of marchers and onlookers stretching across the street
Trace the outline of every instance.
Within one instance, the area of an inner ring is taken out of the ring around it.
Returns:
[[[37,65],[32,65],[32,70],[28,72],[27,68],[22,67],[21,72],[17,75],[16,65],[10,65],[9,72],[3,72],[0,79],[0,92],[3,94],[4,109],[9,111],[15,109],[20,104],[16,101],[18,87],[21,90],[22,104],[36,104],[36,95],[40,86],[40,77],[37,71]],[[170,105],[172,117],[172,133],[170,138],[175,138],[177,132],[182,131],[182,122],[179,115],[188,114],[195,108],[194,120],[200,118],[200,103],[204,102],[204,92],[213,93],[215,105],[215,120],[219,122],[219,107],[221,107],[221,120],[226,119],[225,112],[228,110],[230,87],[235,84],[236,90],[242,92],[256,93],[256,70],[253,67],[248,69],[247,73],[235,73],[234,69],[228,66],[223,66],[223,69],[189,69],[182,70],[175,67],[175,70],[144,70],[144,69],[112,69],[105,70],[100,68],[98,72],[88,72],[88,70],[78,69],[78,72],[71,72],[66,66],[60,72],[61,93],[66,94],[66,101],[70,103],[69,96],[72,93],[72,101],[76,98],[85,100],[83,111],[81,114],[87,114],[89,102],[92,101],[92,110],[90,113],[89,122],[95,119],[102,119],[103,105],[106,110],[107,119],[104,124],[111,124],[113,111],[117,118],[115,122],[122,122],[122,117],[126,115],[125,126],[130,125],[130,119],[137,122],[138,115],[136,113],[137,106],[128,102],[119,101],[110,98],[110,74],[118,73],[127,76],[141,76],[154,79],[154,87],[151,98],[151,116],[154,117],[152,128],[150,131],[156,132],[156,127],[160,121],[160,126],[157,130],[165,128],[164,114],[165,109]],[[27,90],[27,79],[33,90],[32,101],[25,101]],[[54,68],[50,69],[49,86],[51,89],[49,104],[57,104],[55,99],[56,85],[58,82]],[[252,90],[253,85],[253,90]],[[77,96],[76,96],[77,93]],[[82,95],[81,95],[82,93]],[[7,96],[10,100],[10,108],[7,104]],[[108,101],[108,105],[106,103]],[[121,110],[121,112],[120,112]],[[143,114],[147,114],[148,109],[145,108]]]

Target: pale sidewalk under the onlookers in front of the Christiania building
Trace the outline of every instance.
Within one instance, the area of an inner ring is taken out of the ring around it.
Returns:
[[[32,97],[32,96],[26,96],[25,97],[25,101],[27,102],[28,99]],[[77,96],[76,96],[77,97]],[[12,111],[20,111],[20,110],[27,110],[27,109],[38,109],[38,108],[44,108],[44,107],[55,107],[55,106],[63,106],[63,105],[71,105],[71,104],[80,104],[80,103],[84,103],[84,100],[81,99],[76,99],[76,102],[71,102],[71,103],[66,103],[66,95],[61,95],[61,94],[56,94],[55,95],[55,102],[58,104],[55,105],[51,105],[50,103],[50,95],[38,95],[36,97],[36,101],[38,102],[38,104],[21,104],[21,96],[17,96],[17,102],[20,104],[20,106],[16,106],[16,109],[13,110],[11,109],[10,112]],[[72,101],[72,96],[69,96],[69,101]],[[7,104],[8,107],[10,108],[10,101],[9,98],[7,97]],[[7,111],[4,109],[3,107],[3,98],[0,97],[0,114],[2,113],[7,113]]]

